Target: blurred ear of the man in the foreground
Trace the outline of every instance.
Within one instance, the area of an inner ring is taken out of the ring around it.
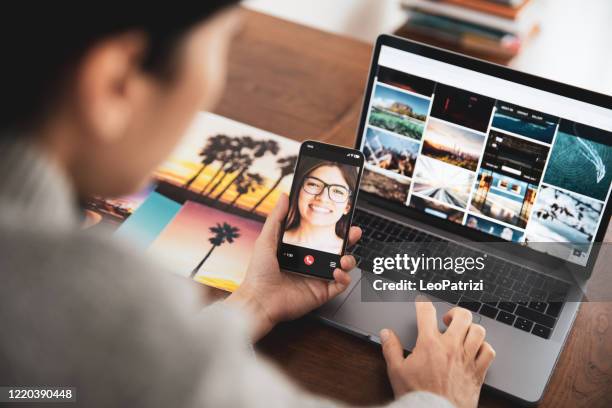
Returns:
[[[94,142],[115,141],[126,133],[148,83],[140,67],[145,47],[144,35],[125,33],[100,41],[81,59],[75,108]]]

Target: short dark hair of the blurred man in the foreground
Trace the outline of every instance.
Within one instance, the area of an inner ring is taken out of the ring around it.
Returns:
[[[147,37],[142,66],[168,76],[173,53],[196,24],[238,0],[181,3],[16,2],[3,11],[0,131],[31,129],[44,120],[71,69],[100,40],[129,31]]]

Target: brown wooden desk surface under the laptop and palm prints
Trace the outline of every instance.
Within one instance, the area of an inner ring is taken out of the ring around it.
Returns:
[[[371,46],[247,12],[216,112],[296,140],[352,146]],[[357,405],[390,401],[380,348],[304,318],[258,349],[306,389]],[[511,406],[485,391],[481,406]],[[612,406],[612,303],[582,306],[543,406]]]

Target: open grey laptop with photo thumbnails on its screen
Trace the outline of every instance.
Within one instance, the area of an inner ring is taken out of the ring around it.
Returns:
[[[610,96],[380,36],[356,142],[367,162],[353,221],[364,231],[358,268],[318,316],[374,342],[392,328],[409,351],[419,292],[382,299],[371,283],[457,274],[376,275],[375,258],[484,253],[488,267],[460,277],[481,290],[428,295],[438,319],[459,305],[486,328],[497,352],[488,388],[538,402],[610,221],[610,107]]]

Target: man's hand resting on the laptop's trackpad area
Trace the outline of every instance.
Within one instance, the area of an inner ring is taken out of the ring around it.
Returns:
[[[485,374],[495,358],[495,351],[484,341],[484,327],[472,323],[469,311],[455,307],[444,315],[448,329],[441,334],[432,303],[417,299],[415,306],[419,335],[407,358],[395,333],[388,329],[380,333],[395,396],[429,391],[456,407],[476,407]]]

